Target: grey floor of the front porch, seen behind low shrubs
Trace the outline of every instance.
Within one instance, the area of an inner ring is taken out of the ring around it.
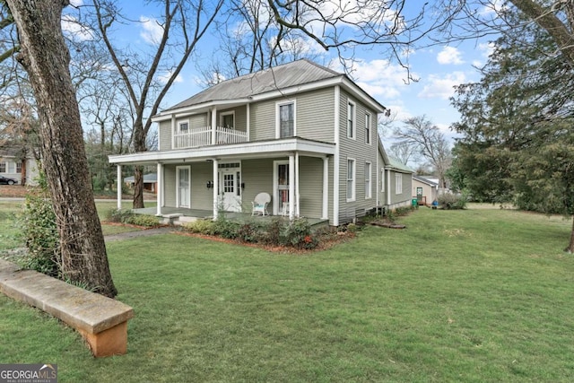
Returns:
[[[136,214],[156,215],[157,208],[145,207],[143,209],[133,209],[132,211]],[[283,217],[283,215],[252,216],[251,213],[237,213],[237,212],[223,212],[223,213],[225,214],[225,218],[227,218],[228,220],[239,223],[252,222],[254,220],[265,222],[265,221],[271,221],[275,217],[288,219],[288,217]],[[170,206],[163,206],[161,208],[162,216],[167,217],[170,214],[181,214],[184,217],[198,218],[198,219],[213,218],[213,211],[211,210],[187,209],[185,207],[170,207]],[[322,224],[328,225],[329,223],[328,220],[323,220],[320,218],[309,218],[309,217],[304,218],[307,220],[307,222],[309,222],[309,225],[311,226],[317,226]]]

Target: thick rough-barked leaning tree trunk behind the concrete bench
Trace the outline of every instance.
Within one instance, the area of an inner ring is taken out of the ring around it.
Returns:
[[[30,75],[39,109],[43,169],[62,249],[62,271],[114,297],[100,220],[91,191],[80,111],[61,30],[66,0],[6,0],[22,46],[17,59]]]

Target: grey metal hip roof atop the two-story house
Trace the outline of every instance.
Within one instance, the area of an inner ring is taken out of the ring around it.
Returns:
[[[267,91],[344,76],[325,66],[301,59],[223,81],[165,110],[186,108],[212,101],[246,99]]]

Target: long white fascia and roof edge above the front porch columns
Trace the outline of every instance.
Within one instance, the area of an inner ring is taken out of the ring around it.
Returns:
[[[109,156],[109,162],[115,164],[155,164],[178,162],[201,162],[221,159],[267,158],[299,152],[300,155],[324,157],[335,154],[335,144],[306,140],[300,137],[287,139],[203,146],[168,152],[139,152],[133,154]]]

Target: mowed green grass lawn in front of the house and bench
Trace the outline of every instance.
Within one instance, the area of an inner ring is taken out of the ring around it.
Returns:
[[[177,234],[108,245],[128,353],[0,296],[0,362],[61,382],[574,381],[570,222],[421,208],[309,255]]]

